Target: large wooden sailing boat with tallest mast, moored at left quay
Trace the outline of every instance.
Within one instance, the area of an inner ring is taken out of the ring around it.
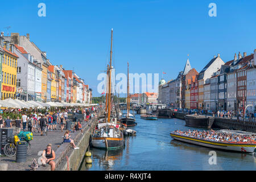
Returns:
[[[117,118],[112,113],[112,94],[111,94],[111,72],[112,72],[112,41],[113,28],[111,31],[111,49],[110,63],[108,65],[108,86],[106,92],[106,115],[108,120],[104,123],[98,123],[92,135],[92,146],[105,150],[116,150],[123,147],[123,131],[122,126],[118,125]],[[112,118],[110,118],[112,115]]]

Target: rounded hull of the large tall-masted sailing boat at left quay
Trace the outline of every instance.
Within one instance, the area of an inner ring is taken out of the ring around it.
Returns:
[[[123,147],[123,138],[92,137],[92,146],[105,150],[117,150]]]

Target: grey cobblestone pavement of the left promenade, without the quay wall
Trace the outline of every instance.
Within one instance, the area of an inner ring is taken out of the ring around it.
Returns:
[[[86,125],[86,122],[82,122],[82,127]],[[14,128],[15,131],[15,128]],[[30,141],[31,143],[31,151],[27,155],[27,162],[26,163],[16,163],[16,156],[14,157],[7,157],[7,156],[1,156],[0,157],[0,163],[7,163],[8,164],[8,171],[28,171],[30,170],[30,165],[32,163],[33,159],[38,160],[40,156],[39,151],[43,151],[46,149],[47,144],[52,144],[52,149],[54,151],[57,150],[57,148],[61,145],[63,142],[63,135],[65,130],[61,132],[60,128],[53,131],[48,131],[48,135],[40,136],[40,133],[34,132],[33,133],[33,140]],[[71,133],[72,138],[72,133]],[[3,153],[3,151],[2,151]],[[39,154],[39,155],[38,155]]]

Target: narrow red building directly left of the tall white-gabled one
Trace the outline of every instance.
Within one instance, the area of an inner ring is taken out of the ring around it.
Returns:
[[[198,108],[198,75],[192,76],[190,88],[190,109]]]

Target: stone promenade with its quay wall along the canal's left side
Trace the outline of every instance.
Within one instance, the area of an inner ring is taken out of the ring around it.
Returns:
[[[97,116],[99,115],[99,113],[100,113],[100,110],[97,113]],[[79,150],[83,150],[83,151],[75,150],[75,152],[79,152],[80,154],[84,154],[86,152],[86,148],[88,146],[81,146],[79,141],[81,140],[81,138],[86,137],[88,138],[88,142],[89,142],[89,135],[91,134],[90,132],[93,130],[94,124],[96,122],[97,122],[96,117],[93,117],[88,122],[83,121],[81,122],[83,134],[81,134],[81,131],[76,131],[75,133],[73,132],[71,133],[71,138],[74,140],[75,144],[80,147]],[[33,133],[34,138],[30,142],[31,151],[28,152],[27,154],[26,163],[16,163],[16,156],[9,158],[3,155],[0,157],[0,163],[8,164],[8,168],[7,168],[8,171],[29,171],[32,160],[36,159],[38,161],[38,159],[42,155],[42,151],[46,148],[47,144],[51,143],[52,149],[53,151],[55,151],[55,154],[56,154],[55,163],[56,163],[56,170],[58,170],[59,169],[58,164],[60,163],[63,164],[63,161],[62,161],[63,159],[65,160],[65,162],[67,162],[66,156],[68,156],[68,154],[71,154],[72,151],[74,151],[69,143],[63,143],[64,131],[65,130],[61,132],[59,128],[57,130],[48,131],[48,135],[45,135],[45,136],[40,136],[40,133],[34,132]],[[78,159],[78,160],[81,161],[81,159]],[[48,164],[46,165],[46,167],[43,167],[40,165],[40,167],[37,170],[38,171],[50,170],[50,166]]]

